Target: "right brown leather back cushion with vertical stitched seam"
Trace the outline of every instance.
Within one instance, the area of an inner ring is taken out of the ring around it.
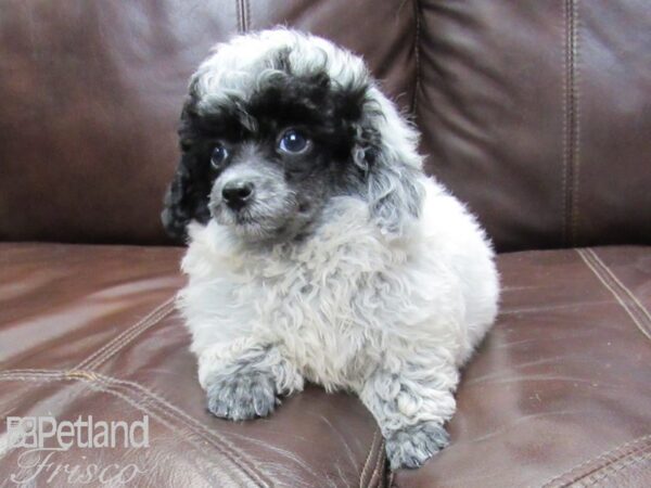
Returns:
[[[427,169],[500,251],[651,243],[651,10],[420,0]]]

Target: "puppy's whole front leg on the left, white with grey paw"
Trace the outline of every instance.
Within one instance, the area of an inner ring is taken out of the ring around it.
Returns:
[[[250,339],[218,344],[199,357],[208,410],[234,421],[267,416],[279,395],[303,389],[303,377],[277,347]]]

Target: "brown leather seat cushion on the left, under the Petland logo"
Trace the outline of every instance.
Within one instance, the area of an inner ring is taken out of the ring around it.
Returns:
[[[7,416],[148,415],[149,448],[73,447],[50,460],[84,468],[133,464],[144,472],[138,486],[378,486],[382,437],[354,397],[310,386],[271,419],[235,424],[207,412],[171,303],[183,283],[181,252],[0,244],[2,424]],[[21,458],[26,449],[8,450],[2,434],[0,479],[35,475],[20,470],[34,463]],[[66,481],[56,475],[49,486]]]

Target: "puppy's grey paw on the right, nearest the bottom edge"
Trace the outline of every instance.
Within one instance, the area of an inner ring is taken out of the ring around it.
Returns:
[[[386,439],[386,455],[392,471],[420,467],[449,444],[442,425],[423,422],[392,433]]]

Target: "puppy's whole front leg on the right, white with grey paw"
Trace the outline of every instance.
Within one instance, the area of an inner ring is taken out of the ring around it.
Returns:
[[[430,358],[432,359],[432,358]],[[386,439],[392,470],[418,467],[446,447],[459,373],[452,361],[384,361],[359,391]]]

